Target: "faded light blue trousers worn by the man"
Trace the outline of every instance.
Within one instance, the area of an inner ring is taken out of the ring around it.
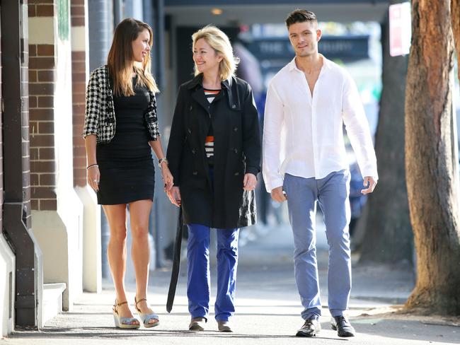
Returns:
[[[284,175],[289,221],[294,234],[294,274],[304,310],[301,316],[321,315],[316,263],[316,202],[323,211],[329,245],[328,306],[332,316],[343,315],[351,290],[350,172],[340,170],[315,178]]]

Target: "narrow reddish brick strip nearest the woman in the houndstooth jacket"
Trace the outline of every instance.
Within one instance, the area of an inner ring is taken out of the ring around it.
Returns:
[[[86,151],[85,142],[81,137],[85,119],[85,92],[88,66],[88,54],[86,52],[85,27],[85,0],[70,1],[70,18],[73,41],[78,40],[82,44],[74,45],[72,49],[72,112],[73,112],[73,136],[74,136],[74,186],[86,185]]]

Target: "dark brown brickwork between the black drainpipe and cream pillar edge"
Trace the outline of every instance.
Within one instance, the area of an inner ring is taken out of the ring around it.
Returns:
[[[53,0],[29,0],[28,16],[52,17]],[[29,45],[30,199],[33,210],[56,210],[54,45]]]

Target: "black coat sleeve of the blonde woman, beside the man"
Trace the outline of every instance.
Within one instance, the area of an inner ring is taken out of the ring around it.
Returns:
[[[246,174],[257,176],[260,172],[260,127],[253,91],[247,84],[243,104],[243,153],[246,157]]]

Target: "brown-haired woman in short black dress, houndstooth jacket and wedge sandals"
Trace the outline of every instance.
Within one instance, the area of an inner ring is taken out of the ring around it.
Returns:
[[[136,274],[135,308],[144,327],[159,324],[146,303],[149,276],[149,214],[154,197],[157,158],[165,189],[173,177],[161,148],[155,92],[150,70],[152,31],[132,18],[115,29],[108,63],[91,73],[86,91],[84,137],[88,185],[103,205],[110,226],[108,262],[115,283],[115,326],[139,328],[125,293],[126,215],[130,209],[132,260]]]

